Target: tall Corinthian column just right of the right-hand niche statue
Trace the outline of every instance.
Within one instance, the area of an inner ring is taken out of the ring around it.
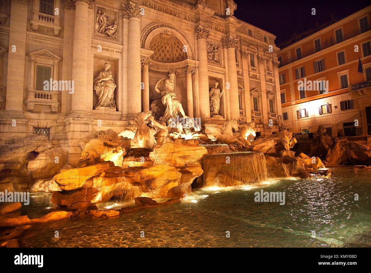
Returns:
[[[240,118],[240,109],[238,101],[238,83],[237,83],[237,68],[236,68],[236,54],[235,48],[237,47],[238,39],[232,36],[223,38],[223,47],[227,48],[228,59],[228,82],[229,82],[229,102],[231,118]]]

